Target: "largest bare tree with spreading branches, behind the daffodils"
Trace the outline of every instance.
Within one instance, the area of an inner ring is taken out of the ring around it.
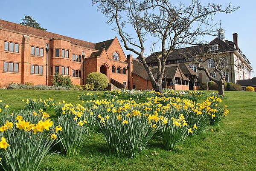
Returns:
[[[209,3],[204,6],[199,0],[192,0],[190,5],[174,5],[170,0],[92,0],[92,3],[98,4],[98,10],[109,18],[108,24],[114,23],[114,30],[118,31],[125,49],[138,55],[154,90],[161,93],[169,54],[186,44],[203,43],[197,36],[214,33],[211,23],[217,12],[231,13],[239,8],[231,4],[223,7]],[[156,77],[144,59],[145,42],[150,38],[158,42],[161,51],[156,56]]]

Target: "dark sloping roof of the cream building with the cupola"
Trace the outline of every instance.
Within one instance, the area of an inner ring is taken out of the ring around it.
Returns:
[[[231,46],[232,45],[231,41],[229,43],[226,43],[217,37],[214,40],[212,40],[210,43],[208,43],[208,45],[218,44],[218,50],[214,51],[216,53],[236,51],[237,49]],[[186,48],[175,49],[172,53],[169,54],[166,61],[184,59],[189,56],[201,54],[203,51],[209,51],[208,46],[198,45],[198,46],[190,46]],[[162,52],[155,52],[149,55],[145,60],[147,63],[156,63],[157,62],[156,57],[158,57],[161,54]]]

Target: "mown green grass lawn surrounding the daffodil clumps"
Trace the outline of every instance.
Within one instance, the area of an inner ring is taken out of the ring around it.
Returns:
[[[67,103],[80,103],[78,95],[85,91],[0,90],[0,99],[11,109],[25,106],[22,99],[48,98]],[[87,93],[87,92],[86,92]],[[93,91],[95,93],[95,91]],[[98,91],[100,98],[103,92]],[[256,93],[225,91],[222,104],[230,113],[220,125],[210,127],[200,136],[190,137],[176,151],[163,150],[154,137],[136,159],[116,157],[108,153],[101,133],[88,137],[80,154],[66,157],[55,154],[44,160],[42,171],[83,170],[255,170],[256,166]],[[52,111],[51,111],[52,112]]]

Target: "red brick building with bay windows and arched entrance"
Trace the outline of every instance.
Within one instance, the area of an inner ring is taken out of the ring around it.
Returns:
[[[82,85],[87,74],[101,72],[120,87],[128,82],[127,64],[116,37],[90,43],[0,20],[1,86],[27,82],[51,85],[56,72]]]

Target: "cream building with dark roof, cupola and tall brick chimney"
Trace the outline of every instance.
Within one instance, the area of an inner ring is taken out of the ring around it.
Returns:
[[[195,59],[202,62],[202,66],[206,67],[209,74],[217,80],[220,80],[220,75],[215,70],[215,61],[210,58],[209,55],[215,55],[218,58],[218,67],[223,71],[225,81],[237,83],[238,80],[250,80],[251,72],[253,68],[250,66],[250,62],[247,57],[242,53],[238,44],[238,34],[233,34],[233,41],[224,40],[224,30],[220,28],[218,30],[218,37],[212,40],[204,48],[209,48],[208,55],[200,55],[199,49],[202,46],[191,46],[187,48],[175,49],[166,60],[166,67],[179,66],[181,63],[186,63],[195,73],[199,75],[197,82],[208,83],[211,81],[204,71],[197,69]],[[208,51],[208,50],[207,50]],[[145,60],[148,66],[151,68],[157,68],[157,62],[154,55],[151,54]],[[192,58],[191,58],[192,57]],[[195,82],[196,83],[196,82]]]

